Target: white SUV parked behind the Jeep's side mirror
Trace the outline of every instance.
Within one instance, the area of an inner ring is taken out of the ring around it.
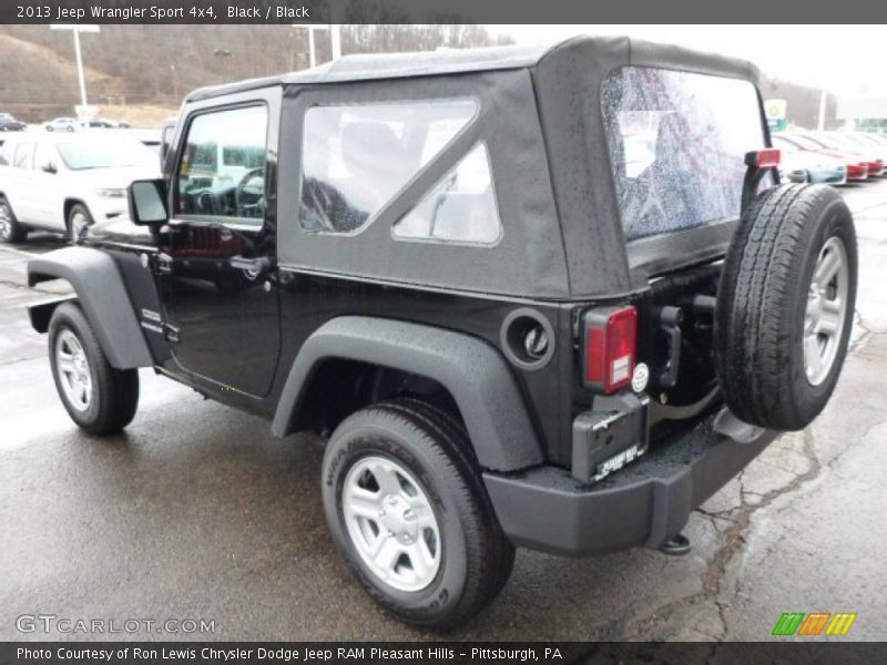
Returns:
[[[157,155],[129,136],[10,139],[0,151],[0,242],[31,228],[78,242],[94,222],[126,216],[126,187],[159,173]]]

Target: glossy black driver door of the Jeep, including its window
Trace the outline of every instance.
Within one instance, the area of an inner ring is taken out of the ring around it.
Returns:
[[[276,143],[279,89],[185,120],[155,270],[173,359],[200,383],[254,397],[279,357]],[[241,101],[242,100],[242,101]]]

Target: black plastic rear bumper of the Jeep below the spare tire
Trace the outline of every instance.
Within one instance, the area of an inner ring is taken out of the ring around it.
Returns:
[[[714,431],[714,417],[593,485],[569,471],[537,467],[485,473],[496,514],[516,545],[565,556],[635,546],[659,548],[677,535],[690,513],[748,464],[779,432],[750,443]]]

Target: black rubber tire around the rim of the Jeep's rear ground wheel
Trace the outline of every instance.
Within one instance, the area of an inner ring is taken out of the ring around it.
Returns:
[[[361,459],[392,460],[418,480],[434,507],[441,540],[435,579],[418,591],[383,581],[358,553],[345,523],[343,487]],[[347,418],[324,456],[323,498],[338,549],[377,603],[407,623],[451,628],[501,591],[514,561],[461,426],[416,400],[384,402]]]

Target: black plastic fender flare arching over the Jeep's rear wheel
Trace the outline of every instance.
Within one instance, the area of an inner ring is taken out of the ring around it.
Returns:
[[[485,469],[517,471],[544,461],[520,389],[502,356],[476,337],[432,326],[343,316],[317,328],[289,370],[272,432],[294,431],[306,387],[326,359],[369,362],[434,379],[456,400]]]

